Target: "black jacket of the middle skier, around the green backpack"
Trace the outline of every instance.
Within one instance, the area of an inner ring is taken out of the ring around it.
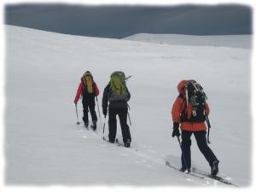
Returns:
[[[108,96],[109,96],[109,87],[110,84],[108,84],[103,92],[103,97],[102,97],[102,108],[103,109],[107,109],[108,108]],[[109,108],[128,108],[128,101],[131,98],[131,94],[129,92],[129,90],[127,89],[127,100],[123,100],[123,101],[113,101],[113,102],[109,102]]]

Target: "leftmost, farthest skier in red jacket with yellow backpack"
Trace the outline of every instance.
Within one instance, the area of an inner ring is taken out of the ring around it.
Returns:
[[[95,97],[99,95],[99,89],[94,82],[93,77],[89,71],[85,72],[81,78],[77,94],[74,99],[74,103],[77,105],[79,98],[82,95],[83,112],[84,112],[84,126],[87,128],[89,125],[88,112],[92,119],[92,129],[96,130],[97,116],[95,111]],[[89,110],[88,110],[89,109]]]

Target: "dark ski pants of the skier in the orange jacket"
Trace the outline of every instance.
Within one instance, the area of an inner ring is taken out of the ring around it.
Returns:
[[[191,139],[192,133],[194,133],[195,140],[201,153],[205,156],[210,166],[214,160],[218,160],[212,149],[207,144],[207,131],[182,131],[182,166],[183,168],[191,168]]]

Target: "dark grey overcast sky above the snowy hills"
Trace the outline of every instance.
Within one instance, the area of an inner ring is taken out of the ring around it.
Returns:
[[[104,38],[125,38],[142,32],[251,34],[252,8],[237,4],[160,7],[23,3],[5,6],[5,23]]]

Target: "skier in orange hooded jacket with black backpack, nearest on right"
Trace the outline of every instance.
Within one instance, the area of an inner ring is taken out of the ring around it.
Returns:
[[[192,82],[192,84],[191,84]],[[190,84],[189,84],[190,83]],[[196,91],[189,90],[191,88],[196,88],[197,90],[200,90],[202,95],[198,93],[197,96],[193,96],[193,94]],[[211,148],[207,145],[207,131],[206,131],[206,125],[204,123],[207,115],[210,112],[210,109],[208,107],[208,104],[206,102],[205,93],[202,91],[201,85],[197,84],[195,80],[182,80],[177,85],[177,90],[179,93],[179,96],[177,96],[176,101],[173,104],[172,107],[172,120],[173,120],[173,131],[172,131],[172,137],[179,137],[180,131],[179,131],[179,124],[181,123],[181,137],[182,137],[182,168],[180,171],[182,172],[190,172],[191,167],[191,156],[190,156],[190,145],[191,145],[191,135],[194,133],[196,143],[198,145],[198,148],[201,150],[201,153],[205,156],[207,159],[210,167],[211,167],[211,173],[212,175],[218,174],[218,159],[213,154]],[[188,98],[189,97],[189,98]],[[199,98],[203,98],[201,101],[199,101]],[[195,105],[191,101],[196,101]],[[202,104],[200,104],[202,103]],[[197,108],[196,108],[196,107]],[[202,110],[200,107],[202,106]]]

